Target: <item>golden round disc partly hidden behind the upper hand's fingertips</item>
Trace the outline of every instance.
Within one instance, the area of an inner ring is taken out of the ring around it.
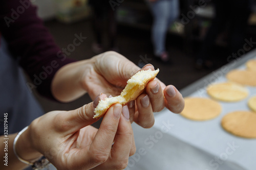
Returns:
[[[206,98],[185,98],[185,107],[181,115],[191,120],[208,120],[221,113],[221,105]]]

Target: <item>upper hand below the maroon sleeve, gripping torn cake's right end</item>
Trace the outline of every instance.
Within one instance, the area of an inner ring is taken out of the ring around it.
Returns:
[[[133,62],[116,52],[106,52],[92,58],[92,66],[84,72],[81,84],[92,99],[99,92],[107,95],[119,95],[122,89],[137,71],[140,70]],[[85,67],[84,67],[85,68]],[[145,65],[142,69],[154,67]],[[144,93],[136,101],[127,104],[131,122],[135,121],[144,128],[154,125],[153,112],[161,111],[164,107],[174,113],[180,113],[184,108],[181,93],[172,85],[166,86],[157,78],[150,81]]]

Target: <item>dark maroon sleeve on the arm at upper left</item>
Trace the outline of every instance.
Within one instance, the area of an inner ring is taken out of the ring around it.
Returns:
[[[56,71],[74,60],[60,51],[29,0],[0,2],[0,33],[31,78],[33,83],[27,83],[28,87],[54,99],[51,82]]]

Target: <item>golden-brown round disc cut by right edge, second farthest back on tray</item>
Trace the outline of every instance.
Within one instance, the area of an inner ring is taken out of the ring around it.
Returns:
[[[227,79],[242,85],[256,86],[256,73],[250,70],[231,70],[227,74]]]

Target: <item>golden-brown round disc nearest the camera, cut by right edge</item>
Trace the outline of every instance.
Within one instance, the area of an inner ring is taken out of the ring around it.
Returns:
[[[250,111],[228,113],[222,118],[221,125],[233,135],[256,138],[256,113]]]

